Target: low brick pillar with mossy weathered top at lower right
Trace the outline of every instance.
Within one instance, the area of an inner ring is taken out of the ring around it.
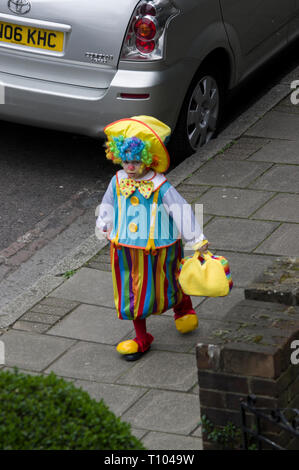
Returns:
[[[299,307],[244,300],[221,322],[202,320],[202,330],[196,348],[201,416],[217,426],[240,427],[240,400],[249,394],[260,408],[299,408],[299,365],[290,362],[291,344],[299,340]],[[271,424],[264,430],[277,437]],[[290,436],[278,438],[289,444]],[[219,446],[204,436],[204,449],[211,448]]]

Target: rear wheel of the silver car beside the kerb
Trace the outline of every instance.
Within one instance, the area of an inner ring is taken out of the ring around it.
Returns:
[[[193,80],[184,100],[171,150],[188,156],[216,135],[224,87],[213,70],[201,70]]]

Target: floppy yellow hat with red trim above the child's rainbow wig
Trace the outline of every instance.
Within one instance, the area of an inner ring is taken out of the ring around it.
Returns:
[[[150,152],[153,155],[153,162],[150,167],[158,173],[164,173],[170,163],[169,153],[164,145],[165,139],[170,136],[169,126],[152,116],[133,116],[131,118],[120,119],[108,124],[104,128],[108,137],[108,142],[113,137],[122,135],[125,139],[137,137],[142,141],[150,143]]]

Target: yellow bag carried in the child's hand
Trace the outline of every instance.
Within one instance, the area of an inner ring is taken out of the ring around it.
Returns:
[[[203,297],[222,297],[233,287],[227,259],[209,251],[184,258],[178,281],[185,294]]]

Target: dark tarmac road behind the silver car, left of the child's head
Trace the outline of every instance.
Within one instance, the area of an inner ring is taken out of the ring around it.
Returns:
[[[1,123],[0,251],[72,195],[106,183],[114,168],[103,142]]]

